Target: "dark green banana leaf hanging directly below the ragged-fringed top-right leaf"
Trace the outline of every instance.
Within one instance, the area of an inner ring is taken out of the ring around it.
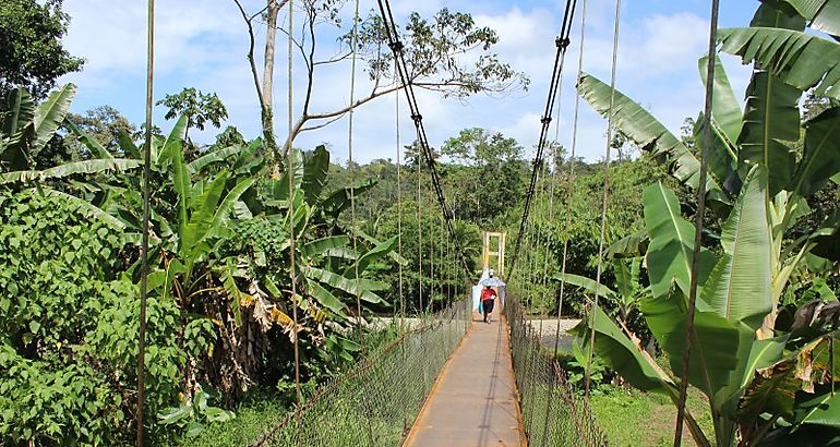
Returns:
[[[766,71],[754,72],[747,87],[739,162],[763,165],[771,195],[787,186],[793,176],[794,155],[782,142],[800,136],[800,96],[801,90]]]

